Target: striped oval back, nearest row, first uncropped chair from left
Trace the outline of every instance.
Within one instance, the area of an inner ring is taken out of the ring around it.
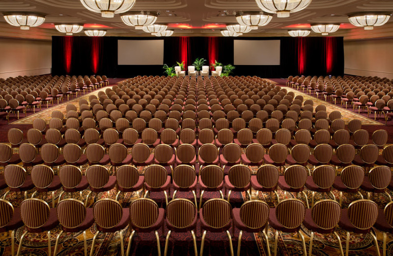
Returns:
[[[21,218],[29,228],[39,228],[49,219],[51,208],[38,198],[28,198],[21,203]]]

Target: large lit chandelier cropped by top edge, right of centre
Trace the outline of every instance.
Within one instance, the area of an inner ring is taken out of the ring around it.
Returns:
[[[298,12],[309,6],[311,0],[255,0],[264,12],[277,13],[277,17],[289,17],[290,12]]]

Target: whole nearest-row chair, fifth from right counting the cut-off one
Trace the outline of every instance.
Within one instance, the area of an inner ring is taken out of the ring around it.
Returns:
[[[240,208],[232,209],[233,223],[240,229],[237,242],[237,255],[240,256],[243,231],[250,233],[262,232],[266,240],[266,248],[270,255],[269,238],[267,236],[269,205],[261,200],[245,202]],[[258,216],[255,218],[255,216]],[[234,232],[234,228],[232,229]]]

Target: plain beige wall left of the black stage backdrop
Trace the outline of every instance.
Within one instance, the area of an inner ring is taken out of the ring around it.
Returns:
[[[0,78],[51,73],[52,42],[0,37]]]

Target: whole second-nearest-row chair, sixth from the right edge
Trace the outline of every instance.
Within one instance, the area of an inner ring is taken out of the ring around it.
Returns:
[[[225,193],[227,193],[227,200],[229,202],[230,194],[232,191],[235,192],[247,192],[251,200],[251,170],[248,166],[243,164],[237,164],[230,167],[228,175],[225,175]]]

